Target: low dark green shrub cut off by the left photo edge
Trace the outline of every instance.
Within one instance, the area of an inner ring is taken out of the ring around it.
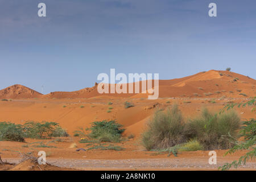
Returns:
[[[0,140],[24,142],[22,126],[10,122],[0,122]]]

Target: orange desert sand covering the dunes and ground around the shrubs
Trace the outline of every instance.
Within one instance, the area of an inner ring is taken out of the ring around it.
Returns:
[[[203,107],[219,111],[229,103],[240,103],[256,96],[256,80],[229,71],[208,71],[196,75],[172,80],[159,80],[158,100],[147,100],[147,94],[99,94],[97,83],[92,88],[75,92],[52,92],[46,95],[22,85],[13,85],[0,90],[0,121],[24,123],[25,121],[52,121],[66,129],[71,137],[62,142],[52,142],[56,148],[23,147],[20,142],[0,142],[2,159],[17,163],[20,153],[44,150],[48,152],[47,160],[63,169],[217,169],[225,162],[232,162],[246,151],[223,156],[226,150],[217,151],[217,166],[208,164],[209,151],[182,152],[178,156],[155,154],[146,151],[140,143],[141,133],[148,119],[157,108],[167,109],[178,104],[185,118],[199,115]],[[214,100],[216,103],[209,102]],[[131,101],[134,107],[125,109],[123,103]],[[167,102],[170,101],[170,102]],[[113,109],[107,113],[108,102],[113,102]],[[65,106],[65,107],[63,107]],[[84,106],[84,107],[81,107]],[[255,118],[253,107],[236,107],[242,119]],[[69,148],[72,143],[86,148],[79,143],[79,137],[72,137],[78,127],[89,127],[93,121],[116,119],[126,129],[123,137],[133,134],[135,137],[117,143],[125,148],[123,151],[76,151]],[[53,140],[53,139],[49,139]],[[26,139],[27,143],[38,142]],[[43,140],[46,141],[46,140]],[[26,164],[24,164],[26,166]],[[25,167],[14,169],[27,169]],[[28,166],[28,164],[27,164]],[[11,169],[6,166],[1,169]],[[38,170],[40,168],[37,168]],[[249,162],[239,169],[256,169],[255,162]],[[49,168],[49,170],[53,170]]]

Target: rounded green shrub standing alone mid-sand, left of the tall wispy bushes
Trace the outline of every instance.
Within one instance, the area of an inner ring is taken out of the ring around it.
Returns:
[[[117,121],[95,121],[90,127],[89,138],[100,140],[100,142],[119,142],[125,129]]]

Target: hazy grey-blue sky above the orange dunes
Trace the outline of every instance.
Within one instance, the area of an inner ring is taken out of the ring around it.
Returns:
[[[46,4],[46,17],[38,4]],[[209,17],[209,3],[217,17]],[[255,0],[0,0],[0,89],[94,86],[100,73],[256,78]]]

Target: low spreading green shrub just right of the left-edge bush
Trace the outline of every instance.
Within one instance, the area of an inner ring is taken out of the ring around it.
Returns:
[[[59,127],[55,122],[34,122],[24,123],[23,130],[27,138],[47,138],[51,137],[55,130]]]

